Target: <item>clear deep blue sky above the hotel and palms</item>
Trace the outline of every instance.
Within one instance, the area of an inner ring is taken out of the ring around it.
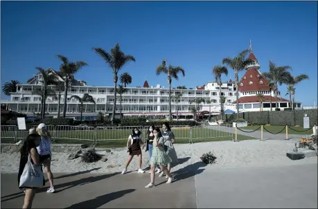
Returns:
[[[78,80],[112,86],[111,69],[91,48],[119,43],[136,58],[121,71],[132,75],[131,87],[145,76],[168,87],[154,73],[163,58],[186,70],[173,87],[195,87],[213,81],[213,66],[247,49],[249,39],[261,72],[272,60],[308,74],[295,99],[317,104],[317,1],[1,1],[1,83],[26,83],[35,66],[58,70],[61,54],[89,64]]]

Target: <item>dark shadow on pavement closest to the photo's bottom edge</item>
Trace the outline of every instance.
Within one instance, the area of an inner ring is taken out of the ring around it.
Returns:
[[[134,191],[135,191],[134,189],[129,189],[129,190],[121,190],[118,192],[112,192],[109,194],[104,194],[94,199],[73,204],[72,206],[69,206],[68,208],[99,208],[100,206],[103,206],[105,203],[108,203],[109,201],[118,199],[120,197],[123,197],[125,194],[131,193]]]

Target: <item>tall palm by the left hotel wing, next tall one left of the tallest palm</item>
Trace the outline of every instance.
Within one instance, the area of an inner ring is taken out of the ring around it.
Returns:
[[[57,55],[58,59],[62,61],[60,65],[60,72],[62,73],[62,79],[64,81],[64,111],[63,111],[63,118],[67,116],[67,89],[69,84],[73,80],[73,75],[80,71],[82,67],[88,66],[86,62],[76,61],[76,62],[69,62],[67,57],[63,55]]]

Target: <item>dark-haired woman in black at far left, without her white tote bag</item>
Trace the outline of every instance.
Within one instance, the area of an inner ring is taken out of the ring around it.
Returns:
[[[24,172],[24,167],[26,167],[26,163],[28,163],[28,158],[30,155],[30,162],[33,165],[39,165],[42,170],[42,166],[39,162],[39,154],[37,153],[37,145],[39,145],[41,141],[41,136],[39,134],[29,134],[28,137],[22,141],[22,147],[20,149],[20,165],[19,165],[19,173],[18,173],[18,185],[20,190],[24,190],[24,205],[22,208],[31,208],[33,199],[35,197],[37,188],[30,187],[20,187],[20,179],[21,175]],[[44,176],[43,176],[43,184],[45,185]]]

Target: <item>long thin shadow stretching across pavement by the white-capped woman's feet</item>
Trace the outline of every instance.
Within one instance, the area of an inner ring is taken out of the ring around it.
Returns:
[[[54,185],[55,193],[62,192],[63,190],[67,190],[69,188],[73,188],[73,187],[75,187],[77,185],[85,185],[87,183],[93,183],[95,181],[100,181],[100,180],[103,180],[103,179],[107,179],[107,178],[115,176],[117,174],[119,174],[119,172],[116,172],[116,173],[113,173],[113,174],[89,176],[89,177],[84,178],[84,179],[78,179],[76,181],[70,181],[70,182]],[[60,188],[63,188],[63,189],[60,189]],[[47,187],[44,186],[43,188],[37,189],[37,193],[46,192],[46,190],[47,190]],[[18,192],[18,193],[15,193],[15,194],[19,194],[19,195],[15,196],[15,197],[8,198],[8,199],[3,199],[3,197],[1,197],[1,202],[8,201],[10,199],[15,199],[15,198],[24,196],[23,192]],[[7,195],[6,197],[10,197],[10,196],[13,196],[15,194],[10,194],[10,195]]]

